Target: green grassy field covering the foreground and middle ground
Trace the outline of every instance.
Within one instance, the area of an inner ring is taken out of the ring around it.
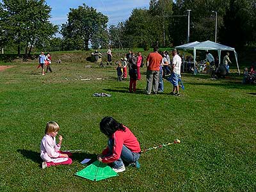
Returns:
[[[241,77],[184,74],[186,89],[174,97],[167,81],[164,93],[145,95],[145,68],[138,92],[128,93],[129,82],[117,82],[114,67],[53,63],[54,72],[41,76],[36,61],[4,65],[15,67],[0,72],[0,191],[256,190],[256,87],[241,84]],[[112,97],[93,97],[97,92]],[[79,162],[106,146],[99,130],[104,116],[127,125],[142,149],[181,143],[146,152],[140,169],[129,167],[119,177],[82,179],[74,175],[84,168]],[[70,166],[40,168],[49,120],[60,124],[62,150],[83,150]]]

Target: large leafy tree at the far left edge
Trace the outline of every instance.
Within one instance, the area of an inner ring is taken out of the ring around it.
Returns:
[[[17,44],[20,55],[21,46],[26,53],[35,44],[44,45],[58,31],[58,27],[49,22],[51,7],[45,0],[3,0],[4,10],[1,20],[6,23],[8,37]],[[7,25],[8,24],[8,25]]]

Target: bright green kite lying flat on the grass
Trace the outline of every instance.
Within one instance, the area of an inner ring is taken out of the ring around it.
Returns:
[[[75,173],[79,177],[85,179],[98,181],[102,179],[108,179],[109,177],[116,177],[118,174],[112,170],[108,164],[95,161],[80,172]]]

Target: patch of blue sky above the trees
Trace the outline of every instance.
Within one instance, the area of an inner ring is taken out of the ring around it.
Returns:
[[[148,8],[150,0],[46,0],[46,3],[51,6],[52,18],[50,21],[53,24],[61,25],[67,22],[67,14],[70,8],[77,8],[85,3],[88,6],[96,8],[98,12],[108,16],[108,25],[118,24],[129,18],[131,11],[134,8]]]

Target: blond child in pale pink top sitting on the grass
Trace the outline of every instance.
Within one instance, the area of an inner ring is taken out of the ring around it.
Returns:
[[[59,164],[71,164],[70,152],[61,152],[62,136],[59,136],[60,142],[56,145],[56,136],[60,131],[60,126],[56,122],[47,122],[45,127],[45,136],[40,145],[40,157],[43,159],[42,168],[47,166],[56,166]]]

